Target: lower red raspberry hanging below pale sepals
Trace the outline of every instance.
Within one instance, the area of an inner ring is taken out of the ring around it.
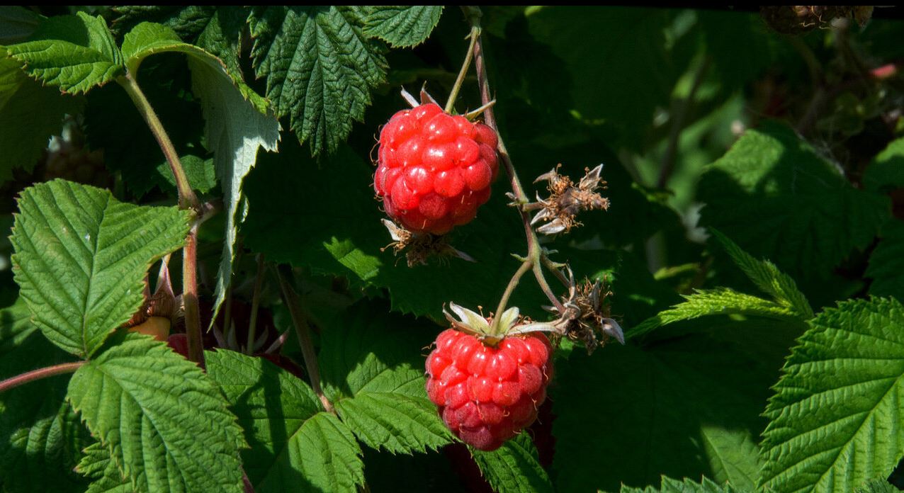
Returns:
[[[552,349],[540,332],[496,346],[449,328],[427,358],[427,394],[443,422],[479,450],[496,450],[537,418],[552,376]]]

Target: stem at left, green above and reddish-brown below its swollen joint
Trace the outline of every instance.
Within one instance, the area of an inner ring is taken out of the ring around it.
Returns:
[[[197,252],[198,252],[198,226],[214,210],[208,204],[201,204],[192,190],[192,185],[185,175],[179,154],[173,146],[173,141],[166,134],[163,123],[157,118],[157,114],[147,100],[145,93],[138,87],[135,75],[127,73],[117,79],[119,85],[128,93],[129,98],[135,103],[138,112],[145,119],[147,127],[160,145],[160,149],[166,156],[170,170],[175,177],[176,189],[179,192],[179,208],[191,209],[195,213],[192,228],[185,238],[183,251],[183,288],[182,299],[185,309],[185,334],[188,340],[188,359],[204,367],[204,348],[201,341],[201,310],[198,308],[198,280],[197,280]]]

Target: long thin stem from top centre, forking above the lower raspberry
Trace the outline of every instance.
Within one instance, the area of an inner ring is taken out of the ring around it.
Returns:
[[[474,32],[475,27],[479,30],[479,9],[477,7],[463,7],[465,10],[466,17],[468,21],[472,25],[472,33]],[[490,97],[490,84],[486,77],[486,62],[484,59],[484,46],[482,37],[477,35],[476,43],[473,44],[474,51],[474,66],[477,71],[477,84],[480,86],[480,100],[481,103],[487,105],[493,98]],[[499,128],[496,126],[496,119],[493,111],[493,106],[488,106],[484,111],[484,120],[487,126],[493,128],[496,132],[496,137],[499,138],[499,146],[496,150],[499,151],[499,156],[502,158],[503,166],[505,168],[505,174],[509,177],[509,182],[512,185],[512,192],[515,197],[515,202],[518,204],[518,213],[521,214],[521,220],[524,225],[524,235],[527,238],[527,257],[522,263],[521,267],[514,273],[512,280],[509,281],[508,286],[505,288],[505,292],[503,294],[503,298],[499,302],[498,308],[496,308],[496,316],[498,317],[504,309],[506,303],[508,303],[508,298],[511,296],[512,291],[515,286],[518,285],[518,282],[521,280],[521,277],[527,270],[533,270],[534,277],[537,278],[537,283],[540,285],[540,289],[542,289],[543,293],[546,295],[546,298],[550,299],[551,303],[559,310],[560,313],[565,312],[565,307],[562,306],[561,301],[558,297],[552,292],[550,289],[550,285],[546,282],[546,278],[543,276],[543,270],[541,268],[542,265],[546,265],[547,268],[551,267],[551,262],[547,263],[543,261],[546,258],[546,254],[543,252],[543,248],[540,245],[540,240],[537,238],[537,233],[533,231],[531,226],[531,216],[530,214],[523,209],[524,204],[530,203],[530,199],[527,197],[527,194],[524,193],[524,187],[521,185],[521,180],[518,179],[518,174],[514,170],[514,166],[512,164],[512,158],[508,154],[508,149],[505,148],[505,142],[503,141],[503,137],[499,135]],[[551,269],[556,270],[556,269]]]

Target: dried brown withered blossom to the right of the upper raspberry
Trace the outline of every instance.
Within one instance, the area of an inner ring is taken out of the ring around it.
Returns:
[[[570,177],[559,174],[560,166],[538,176],[533,182],[543,180],[549,182],[547,188],[551,193],[545,199],[537,194],[537,203],[531,204],[532,209],[540,209],[540,212],[533,216],[531,224],[545,222],[537,228],[537,232],[541,234],[569,232],[571,228],[580,225],[575,220],[578,213],[594,209],[607,210],[609,207],[609,199],[597,193],[598,189],[606,187],[606,181],[600,177],[603,165],[593,169],[584,168],[586,175],[580,179],[578,185],[575,185]]]

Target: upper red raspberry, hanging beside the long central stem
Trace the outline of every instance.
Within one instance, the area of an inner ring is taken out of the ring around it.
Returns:
[[[396,223],[445,234],[489,200],[497,143],[493,128],[436,104],[399,111],[380,132],[373,188]]]

